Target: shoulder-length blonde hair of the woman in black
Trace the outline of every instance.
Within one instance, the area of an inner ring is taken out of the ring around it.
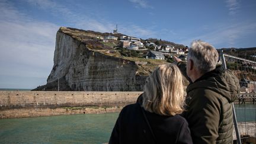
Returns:
[[[175,116],[183,112],[184,89],[180,69],[161,65],[146,79],[142,107],[151,113]]]

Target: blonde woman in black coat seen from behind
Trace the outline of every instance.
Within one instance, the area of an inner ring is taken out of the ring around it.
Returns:
[[[183,77],[177,66],[161,65],[146,79],[142,100],[121,110],[111,143],[192,143],[184,109]]]

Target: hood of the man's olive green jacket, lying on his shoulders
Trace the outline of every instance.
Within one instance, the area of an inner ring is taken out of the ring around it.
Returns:
[[[229,69],[218,66],[215,70],[205,73],[187,87],[187,92],[197,88],[206,88],[225,97],[229,103],[235,101],[239,93],[239,79]]]

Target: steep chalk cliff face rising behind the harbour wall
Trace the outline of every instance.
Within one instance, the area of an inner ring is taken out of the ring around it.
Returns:
[[[146,76],[137,75],[132,60],[104,55],[60,28],[56,35],[54,65],[47,84],[35,90],[142,91]]]

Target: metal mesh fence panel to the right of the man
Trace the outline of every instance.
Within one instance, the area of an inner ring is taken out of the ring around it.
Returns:
[[[232,55],[228,55],[225,53],[221,53],[221,62],[222,66],[225,69],[231,69],[235,73],[236,76],[240,79],[240,85],[241,85],[241,93],[237,95],[238,104],[244,104],[244,105],[254,105],[256,103],[256,62],[252,60],[243,59],[241,57],[236,57]],[[247,104],[246,104],[247,103]],[[236,108],[234,103],[233,105],[233,123],[235,126],[235,132],[236,132],[236,139],[237,143],[241,144],[244,143],[245,137],[249,136],[249,134],[256,133],[256,107],[251,107],[252,114],[247,114],[249,109],[248,107],[239,107]],[[236,114],[236,111],[243,112]],[[255,119],[252,119],[253,123],[248,123],[246,119],[247,115],[255,115]],[[244,115],[244,119],[240,119],[239,123],[237,120],[237,117],[241,117],[241,115]],[[255,135],[254,135],[255,136]],[[242,139],[242,141],[241,141]]]

